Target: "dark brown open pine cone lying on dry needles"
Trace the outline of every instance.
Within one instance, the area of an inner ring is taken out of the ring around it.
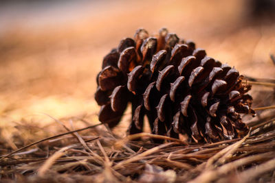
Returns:
[[[95,99],[99,120],[117,125],[132,103],[128,134],[142,132],[144,115],[153,134],[195,142],[243,136],[248,127],[239,113],[254,114],[251,86],[228,64],[206,56],[192,41],[167,29],[150,37],[138,29],[134,39],[121,40],[102,62]]]

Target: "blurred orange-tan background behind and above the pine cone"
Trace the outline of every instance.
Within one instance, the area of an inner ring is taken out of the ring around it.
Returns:
[[[102,58],[140,27],[167,27],[243,75],[275,79],[273,0],[1,1],[1,127],[47,124],[45,114],[98,121]]]

